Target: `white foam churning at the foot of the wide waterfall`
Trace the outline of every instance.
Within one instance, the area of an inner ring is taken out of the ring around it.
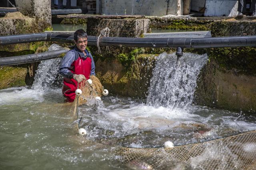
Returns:
[[[196,123],[199,115],[188,113],[184,109],[152,107],[145,104],[130,105],[128,108],[101,109],[105,117],[103,122],[116,122],[123,131],[138,129],[170,129],[180,123]],[[101,122],[101,125],[103,124]],[[106,123],[108,124],[108,123]],[[108,126],[108,125],[106,125]]]

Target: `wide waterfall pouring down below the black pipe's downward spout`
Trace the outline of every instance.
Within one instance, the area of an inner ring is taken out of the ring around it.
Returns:
[[[150,80],[147,105],[184,108],[192,104],[196,80],[208,56],[184,53],[177,61],[175,53],[158,56]]]

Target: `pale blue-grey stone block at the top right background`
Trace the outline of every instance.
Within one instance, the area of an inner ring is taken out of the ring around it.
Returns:
[[[204,16],[237,16],[237,0],[206,0]]]

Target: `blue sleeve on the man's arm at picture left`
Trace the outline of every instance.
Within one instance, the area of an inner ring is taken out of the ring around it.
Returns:
[[[68,51],[66,53],[66,55],[63,57],[61,64],[60,64],[60,69],[59,69],[60,75],[66,77],[66,78],[73,77],[73,73],[68,68],[70,68],[75,57],[76,57],[76,55],[75,55],[74,51]]]

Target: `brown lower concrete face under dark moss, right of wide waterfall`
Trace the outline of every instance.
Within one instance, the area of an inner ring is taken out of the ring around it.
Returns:
[[[201,70],[194,102],[201,106],[256,113],[256,77],[227,70],[211,59]]]

